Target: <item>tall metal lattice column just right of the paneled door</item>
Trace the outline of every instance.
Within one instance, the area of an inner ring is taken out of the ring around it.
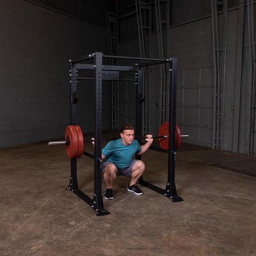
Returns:
[[[223,150],[227,49],[227,0],[211,0],[211,4],[214,59],[214,120],[212,149]],[[218,18],[218,11],[222,11],[221,26]]]

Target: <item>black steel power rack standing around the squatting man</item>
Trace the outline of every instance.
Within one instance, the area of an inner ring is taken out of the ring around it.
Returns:
[[[103,65],[103,58],[120,58],[128,60],[136,60],[137,63],[134,66],[111,66]],[[82,61],[93,60],[93,64],[81,64]],[[97,214],[107,215],[110,214],[103,205],[102,200],[102,81],[134,81],[136,87],[136,126],[135,133],[137,136],[142,136],[142,114],[143,114],[143,67],[148,65],[165,64],[165,68],[168,71],[167,79],[169,81],[169,150],[168,150],[168,178],[166,183],[166,189],[161,189],[145,180],[141,176],[138,183],[148,187],[168,198],[172,201],[183,201],[181,197],[177,195],[175,186],[175,124],[176,124],[176,84],[177,84],[177,58],[168,59],[154,59],[154,58],[136,58],[126,56],[112,56],[104,55],[102,52],[94,52],[89,55],[84,55],[79,58],[70,60],[70,124],[76,125],[77,122],[77,80],[93,80],[95,82],[95,127],[94,127],[94,155],[86,151],[84,155],[94,159],[94,193],[93,198],[90,198],[84,192],[79,189],[77,179],[77,159],[70,160],[70,183],[68,189],[74,192],[82,200],[92,207]],[[77,76],[77,70],[94,70],[94,77],[79,77]],[[134,72],[135,79],[102,79],[102,71],[127,71]],[[140,140],[138,140],[141,143]],[[157,149],[160,151],[160,148]],[[141,156],[136,156],[136,159],[140,160]]]

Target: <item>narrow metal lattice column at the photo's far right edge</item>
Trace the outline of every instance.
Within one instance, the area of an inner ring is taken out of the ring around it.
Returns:
[[[248,149],[247,155],[253,156],[255,143],[255,123],[256,123],[256,55],[255,55],[255,10],[252,0],[247,0],[248,16],[248,37],[249,37],[249,58],[250,58],[250,90],[249,90],[249,128],[248,128]]]

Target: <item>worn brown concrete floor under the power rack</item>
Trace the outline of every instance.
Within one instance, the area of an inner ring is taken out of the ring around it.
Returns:
[[[90,143],[86,150],[93,153]],[[114,184],[110,215],[65,190],[70,161],[64,146],[47,143],[0,150],[0,255],[45,256],[256,256],[256,177],[210,166],[246,158],[225,151],[178,151],[176,186],[184,201],[141,186]],[[165,188],[167,154],[143,155],[144,180]],[[79,187],[93,195],[93,160],[78,161]],[[102,185],[105,189],[105,184]]]

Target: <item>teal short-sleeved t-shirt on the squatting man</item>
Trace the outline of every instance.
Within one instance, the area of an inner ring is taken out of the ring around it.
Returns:
[[[106,157],[106,161],[111,161],[119,169],[125,169],[131,164],[134,154],[140,151],[141,147],[137,140],[125,146],[122,143],[122,138],[120,138],[118,140],[111,140],[102,149],[102,154]]]

